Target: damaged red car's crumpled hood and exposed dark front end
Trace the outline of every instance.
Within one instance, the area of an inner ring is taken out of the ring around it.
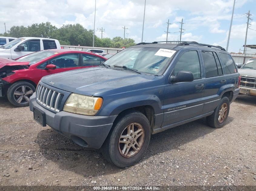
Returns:
[[[15,60],[0,58],[0,78],[14,74],[15,70],[28,69],[29,62],[18,62]]]

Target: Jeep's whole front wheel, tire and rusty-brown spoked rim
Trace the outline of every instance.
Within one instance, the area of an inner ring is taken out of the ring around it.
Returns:
[[[113,125],[101,147],[104,158],[118,167],[128,167],[145,154],[150,141],[150,124],[145,115],[132,111]]]

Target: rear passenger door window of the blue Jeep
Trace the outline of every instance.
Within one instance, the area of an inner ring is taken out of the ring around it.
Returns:
[[[221,65],[218,56],[214,52],[202,51],[206,78],[222,75]]]

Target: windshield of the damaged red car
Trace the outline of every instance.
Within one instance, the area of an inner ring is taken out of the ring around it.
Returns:
[[[29,65],[32,65],[32,64],[35,64],[36,62],[39,62],[45,58],[48,58],[49,56],[52,56],[54,54],[57,54],[57,52],[51,51],[51,50],[42,50],[42,51],[39,51],[36,53],[29,54],[27,56],[23,56],[23,57],[17,59],[17,61],[29,62]]]

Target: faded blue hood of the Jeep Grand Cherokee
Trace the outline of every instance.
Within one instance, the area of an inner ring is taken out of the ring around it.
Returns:
[[[92,96],[95,93],[150,81],[153,78],[155,76],[136,74],[127,70],[91,67],[49,75],[41,81],[65,91]]]

